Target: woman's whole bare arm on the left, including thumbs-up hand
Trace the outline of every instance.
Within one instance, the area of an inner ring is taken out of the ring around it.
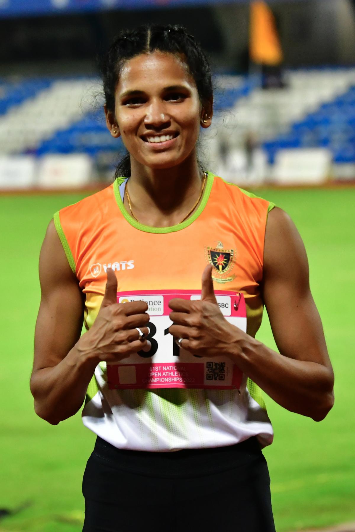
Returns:
[[[41,301],[35,330],[35,358],[30,388],[39,417],[52,425],[75,414],[100,361],[117,361],[147,347],[135,327],[149,317],[144,302],[117,304],[117,279],[108,282],[93,327],[80,338],[83,298],[53,221],[39,257]]]

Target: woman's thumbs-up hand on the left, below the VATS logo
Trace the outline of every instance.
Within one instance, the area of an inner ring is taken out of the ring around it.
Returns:
[[[137,351],[149,351],[150,342],[139,340],[138,327],[147,335],[149,315],[144,301],[117,303],[117,278],[107,269],[104,298],[93,326],[77,343],[82,355],[98,362],[119,362]]]

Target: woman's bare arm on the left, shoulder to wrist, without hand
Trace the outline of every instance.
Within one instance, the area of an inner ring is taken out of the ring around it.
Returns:
[[[36,413],[55,425],[61,411],[72,415],[79,410],[96,364],[83,360],[76,347],[84,313],[82,295],[53,221],[40,252],[39,280],[42,295],[30,387]]]

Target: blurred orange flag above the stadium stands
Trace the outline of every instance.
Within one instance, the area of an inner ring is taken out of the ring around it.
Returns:
[[[262,0],[251,3],[250,58],[254,63],[266,65],[283,61],[274,15]]]

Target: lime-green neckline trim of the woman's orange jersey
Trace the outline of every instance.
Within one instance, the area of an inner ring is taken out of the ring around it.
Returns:
[[[145,226],[143,223],[137,222],[137,220],[135,220],[128,213],[128,211],[126,210],[126,207],[123,205],[123,202],[121,200],[120,189],[119,189],[119,186],[123,183],[125,179],[126,179],[125,177],[118,177],[117,179],[115,179],[113,183],[113,190],[114,190],[114,196],[116,198],[117,205],[119,206],[120,211],[123,214],[123,216],[126,218],[127,222],[130,223],[130,225],[135,227],[136,229],[139,229],[140,231],[151,232],[151,233],[169,233],[169,232],[175,232],[175,231],[180,231],[181,229],[185,229],[185,227],[188,227],[189,225],[191,225],[191,223],[194,222],[196,218],[200,216],[203,209],[207,205],[208,198],[210,197],[214,174],[211,172],[207,172],[207,181],[206,181],[205,188],[203,191],[201,203],[197,207],[195,212],[191,215],[191,217],[187,218],[187,220],[185,220],[182,223],[178,223],[175,226],[170,226],[170,227]]]

